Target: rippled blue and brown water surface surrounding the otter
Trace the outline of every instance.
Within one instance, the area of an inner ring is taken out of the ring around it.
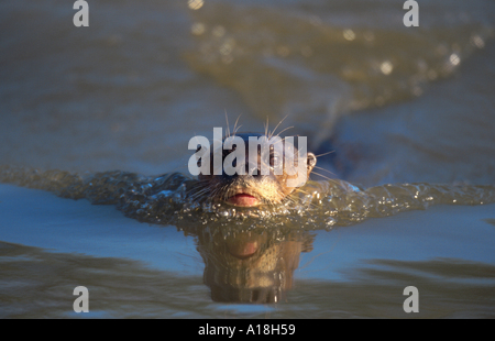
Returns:
[[[1,317],[495,316],[492,1],[88,2],[0,4]],[[187,202],[226,112],[334,151],[299,206]]]

